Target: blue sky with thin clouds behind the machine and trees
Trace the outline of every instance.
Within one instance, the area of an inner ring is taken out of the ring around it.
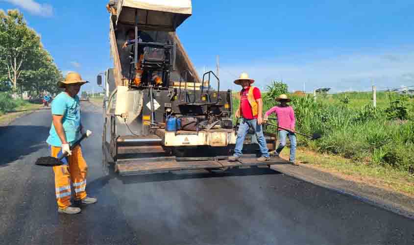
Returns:
[[[62,71],[78,71],[96,90],[112,65],[106,0],[0,0],[18,8]],[[252,4],[257,5],[252,5]],[[193,0],[177,33],[197,71],[216,69],[221,87],[247,72],[256,86],[272,79],[290,90],[333,91],[414,85],[414,1]]]

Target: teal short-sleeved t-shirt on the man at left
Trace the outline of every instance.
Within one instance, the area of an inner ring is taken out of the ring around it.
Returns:
[[[79,97],[70,97],[65,92],[61,92],[52,101],[52,115],[63,115],[62,123],[66,134],[66,141],[72,144],[81,137],[80,135],[80,104]],[[46,142],[55,147],[60,147],[62,142],[56,133],[52,123],[49,137]]]

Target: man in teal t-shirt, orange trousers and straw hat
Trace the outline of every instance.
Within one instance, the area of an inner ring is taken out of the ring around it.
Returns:
[[[49,138],[52,157],[60,157],[67,154],[63,165],[54,166],[55,192],[58,212],[63,214],[77,214],[81,210],[71,207],[71,194],[74,191],[74,200],[80,204],[92,204],[97,198],[86,194],[86,175],[88,166],[82,155],[82,148],[71,145],[81,137],[82,123],[80,121],[79,93],[80,86],[87,83],[78,73],[68,73],[65,81],[58,83],[58,87],[64,88],[52,102],[52,125]],[[73,189],[72,189],[73,187]]]

